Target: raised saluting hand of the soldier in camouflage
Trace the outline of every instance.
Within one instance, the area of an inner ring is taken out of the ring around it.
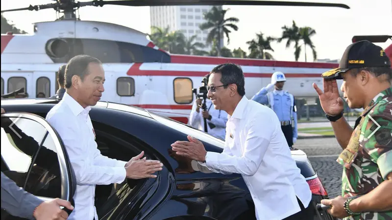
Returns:
[[[324,92],[321,91],[316,83],[313,83],[313,88],[315,88],[319,95],[321,108],[326,114],[335,116],[343,111],[343,100],[339,96],[339,89],[336,80],[324,79]]]

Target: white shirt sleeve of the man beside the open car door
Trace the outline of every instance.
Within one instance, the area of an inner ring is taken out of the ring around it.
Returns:
[[[79,135],[73,129],[77,127],[77,125],[73,125],[61,114],[53,115],[47,120],[50,125],[56,129],[64,142],[73,166],[77,184],[108,185],[111,183],[122,183],[124,181],[126,171],[122,164],[125,163],[113,161],[113,163],[117,163],[117,166],[104,165],[105,163],[102,165],[98,165],[97,163],[90,165],[90,163],[86,161],[86,156],[81,154],[84,152],[83,147],[85,146],[80,143]]]

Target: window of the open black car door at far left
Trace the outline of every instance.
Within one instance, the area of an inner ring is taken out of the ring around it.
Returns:
[[[2,115],[1,162],[5,167],[1,171],[35,196],[61,198],[62,181],[54,140],[58,141],[57,136],[49,134],[35,120]]]

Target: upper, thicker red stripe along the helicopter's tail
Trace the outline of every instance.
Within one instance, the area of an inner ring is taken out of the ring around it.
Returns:
[[[301,67],[301,68],[337,68],[339,64],[335,63],[313,63],[313,62],[292,62],[292,61],[274,61],[258,59],[241,59],[226,57],[203,57],[192,55],[170,55],[172,63],[176,64],[209,64],[220,65],[223,63],[235,63],[241,66],[279,66],[279,67]]]

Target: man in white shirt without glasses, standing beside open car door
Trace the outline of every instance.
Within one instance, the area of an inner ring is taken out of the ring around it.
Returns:
[[[49,124],[59,133],[67,149],[76,176],[75,208],[70,220],[98,220],[94,206],[95,186],[122,183],[125,178],[155,178],[163,164],[146,160],[144,152],[128,162],[100,154],[89,116],[104,91],[105,73],[94,57],[73,57],[65,70],[66,92],[47,115]]]

